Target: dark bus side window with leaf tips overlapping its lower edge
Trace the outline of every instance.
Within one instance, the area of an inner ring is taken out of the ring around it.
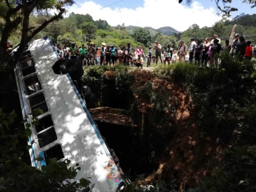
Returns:
[[[48,107],[45,101],[45,96],[43,93],[39,93],[35,96],[29,97],[29,104],[31,112],[33,112],[36,108],[40,108],[43,110],[43,113],[48,111]]]

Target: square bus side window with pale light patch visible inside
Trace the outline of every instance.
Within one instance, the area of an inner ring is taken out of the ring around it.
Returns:
[[[42,89],[37,74],[24,79],[26,95],[30,95]]]

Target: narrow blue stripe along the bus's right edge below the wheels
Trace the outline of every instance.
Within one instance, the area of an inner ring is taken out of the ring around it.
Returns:
[[[99,131],[98,131],[98,128],[96,127],[96,125],[95,125],[95,123],[94,123],[94,120],[93,120],[92,117],[91,117],[91,114],[89,113],[88,109],[86,108],[85,103],[84,103],[82,97],[80,96],[78,90],[76,89],[76,87],[75,87],[75,85],[74,85],[74,83],[73,83],[73,81],[72,81],[70,75],[69,75],[69,74],[66,74],[66,75],[67,75],[67,77],[68,77],[68,79],[69,79],[71,85],[73,86],[73,89],[74,89],[74,91],[75,91],[75,94],[76,94],[76,96],[78,97],[78,99],[79,99],[81,105],[83,106],[84,111],[85,111],[85,113],[86,113],[86,115],[87,115],[87,117],[88,117],[90,123],[92,124],[92,126],[93,126],[93,128],[94,128],[94,130],[95,130],[95,132],[96,132],[96,134],[97,134],[97,136],[98,136],[98,139],[99,139],[99,141],[100,141],[100,144],[103,146],[103,148],[104,148],[106,154],[107,154],[108,156],[111,156],[111,155],[110,155],[110,152],[109,152],[109,150],[108,150],[108,148],[107,148],[107,146],[106,146],[106,144],[104,143],[104,140],[103,140],[102,137],[101,137],[101,134],[100,134]]]

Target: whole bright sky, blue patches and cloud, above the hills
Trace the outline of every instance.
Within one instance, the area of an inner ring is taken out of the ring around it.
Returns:
[[[118,24],[125,26],[153,27],[158,29],[170,26],[183,32],[192,24],[199,27],[212,26],[221,19],[218,16],[215,0],[194,0],[191,6],[181,4],[178,0],[75,0],[72,7],[68,7],[68,16],[90,14],[93,20],[106,20],[111,26]],[[256,8],[250,8],[243,0],[232,0],[229,6],[238,8],[232,17],[241,13],[254,14]],[[231,18],[232,18],[231,17]]]

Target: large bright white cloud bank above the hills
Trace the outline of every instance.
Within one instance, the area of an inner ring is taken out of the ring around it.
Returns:
[[[69,13],[90,14],[96,21],[106,20],[111,26],[124,23],[125,26],[150,26],[155,29],[171,26],[178,31],[188,29],[192,24],[200,27],[211,26],[221,18],[213,7],[204,8],[200,2],[194,1],[190,7],[183,6],[178,0],[144,0],[143,7],[102,8],[93,1],[77,2],[68,8]]]

